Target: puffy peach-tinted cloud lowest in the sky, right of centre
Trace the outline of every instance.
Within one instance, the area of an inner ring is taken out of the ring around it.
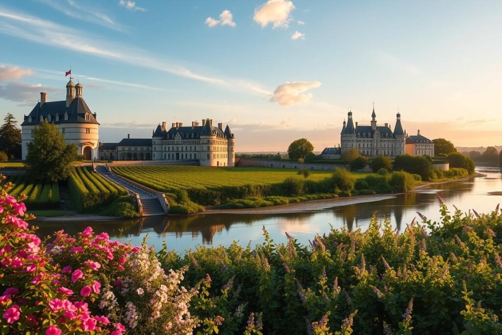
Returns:
[[[319,81],[293,81],[285,82],[277,86],[270,101],[278,102],[281,106],[293,106],[296,104],[307,103],[312,99],[312,93],[303,93],[311,88],[321,86]]]

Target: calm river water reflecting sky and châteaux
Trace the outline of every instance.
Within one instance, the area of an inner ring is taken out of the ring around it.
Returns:
[[[417,216],[417,211],[431,219],[439,218],[437,194],[446,205],[452,204],[463,211],[474,208],[478,212],[488,212],[502,202],[501,195],[487,192],[502,191],[500,169],[479,168],[486,177],[471,178],[468,181],[433,185],[419,192],[397,195],[392,199],[337,206],[330,209],[284,214],[200,214],[194,216],[155,216],[133,220],[112,220],[95,222],[69,222],[67,224],[40,222],[39,234],[50,235],[64,229],[76,234],[91,226],[95,232],[106,232],[112,238],[131,240],[140,244],[148,234],[149,245],[162,248],[166,242],[169,249],[184,251],[198,245],[228,246],[234,240],[245,246],[263,241],[262,226],[265,226],[276,242],[285,242],[285,232],[301,243],[316,234],[329,232],[333,227],[347,227],[349,230],[365,230],[371,215],[376,212],[382,220],[389,217],[392,225],[402,231],[406,224]]]

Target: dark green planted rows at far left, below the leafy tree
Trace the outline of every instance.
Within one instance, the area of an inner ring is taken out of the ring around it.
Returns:
[[[29,209],[59,208],[58,183],[29,181],[25,176],[12,176],[7,181],[12,182],[9,190],[12,196],[18,197],[22,193],[28,196],[25,203]]]

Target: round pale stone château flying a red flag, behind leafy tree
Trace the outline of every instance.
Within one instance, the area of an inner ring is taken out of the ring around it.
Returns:
[[[53,123],[64,135],[66,143],[74,143],[78,154],[86,160],[98,159],[99,123],[82,97],[83,86],[70,78],[66,84],[66,100],[47,101],[47,93],[40,93],[32,111],[25,115],[21,124],[22,158],[28,154],[28,143],[33,139],[35,127],[44,120]]]

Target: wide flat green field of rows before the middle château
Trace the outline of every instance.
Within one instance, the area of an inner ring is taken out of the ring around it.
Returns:
[[[212,188],[247,184],[280,183],[288,177],[298,177],[298,170],[281,168],[216,168],[204,166],[115,166],[114,172],[158,191],[173,188]],[[321,180],[332,171],[312,170],[308,180]],[[357,177],[367,173],[355,172]],[[302,177],[303,178],[303,177]]]

